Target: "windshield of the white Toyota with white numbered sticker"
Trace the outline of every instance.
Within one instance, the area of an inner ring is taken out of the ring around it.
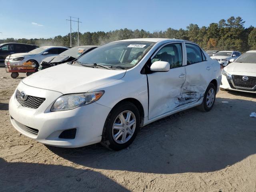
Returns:
[[[129,69],[152,48],[154,42],[119,41],[102,45],[78,59],[82,64],[102,64]]]

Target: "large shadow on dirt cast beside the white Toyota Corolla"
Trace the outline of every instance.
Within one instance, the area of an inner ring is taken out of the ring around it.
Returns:
[[[246,95],[246,93],[242,93]],[[210,112],[186,110],[154,122],[138,133],[129,149],[99,144],[52,152],[76,164],[107,170],[159,174],[212,172],[256,153],[256,102],[217,98]]]

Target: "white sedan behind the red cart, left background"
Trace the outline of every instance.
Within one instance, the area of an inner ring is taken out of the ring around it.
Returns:
[[[36,48],[28,53],[16,53],[6,57],[5,65],[22,65],[26,62],[33,62],[36,64],[36,67],[39,67],[39,64],[42,60],[49,56],[56,56],[69,48],[62,46],[44,46]]]

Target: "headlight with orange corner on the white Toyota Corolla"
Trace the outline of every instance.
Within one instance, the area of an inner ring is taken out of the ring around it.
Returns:
[[[54,102],[51,111],[71,110],[88,105],[100,99],[103,94],[104,91],[63,95]]]

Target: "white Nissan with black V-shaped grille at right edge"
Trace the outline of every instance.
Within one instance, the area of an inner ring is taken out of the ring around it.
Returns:
[[[256,50],[247,51],[222,70],[221,90],[256,93]]]

